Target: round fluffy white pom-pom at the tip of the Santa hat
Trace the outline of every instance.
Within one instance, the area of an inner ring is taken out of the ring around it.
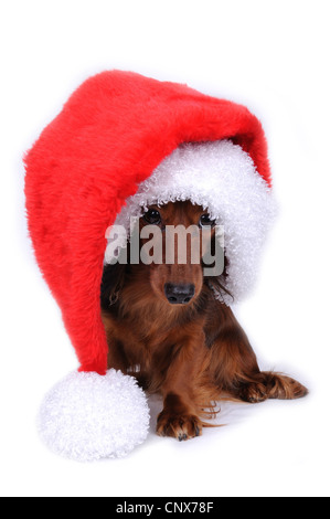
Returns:
[[[134,378],[73,372],[44,399],[39,431],[55,453],[78,462],[123,457],[149,430],[149,407]]]

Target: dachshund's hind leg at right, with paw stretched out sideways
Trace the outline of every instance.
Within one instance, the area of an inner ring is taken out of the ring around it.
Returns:
[[[210,364],[219,389],[252,403],[267,399],[292,400],[305,396],[307,389],[296,380],[259,370],[249,341],[231,308],[221,306],[220,332],[212,345]]]

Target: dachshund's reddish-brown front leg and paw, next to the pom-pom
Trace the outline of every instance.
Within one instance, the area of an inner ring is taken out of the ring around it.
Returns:
[[[158,416],[157,434],[182,439],[202,434],[203,424],[195,402],[196,380],[205,351],[200,330],[181,340],[162,384],[163,411]]]

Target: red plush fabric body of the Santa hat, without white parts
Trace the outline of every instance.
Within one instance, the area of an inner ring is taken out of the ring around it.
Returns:
[[[107,370],[99,305],[107,227],[181,144],[222,139],[239,145],[270,186],[264,131],[247,108],[115,71],[86,81],[26,153],[35,256],[82,371]]]

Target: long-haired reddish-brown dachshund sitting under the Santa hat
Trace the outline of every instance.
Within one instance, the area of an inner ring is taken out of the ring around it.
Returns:
[[[140,230],[179,224],[209,226],[214,240],[215,222],[189,201],[152,205],[139,220]],[[185,265],[107,265],[102,283],[108,366],[162,394],[157,432],[180,441],[202,433],[203,419],[223,393],[252,403],[307,394],[296,380],[259,370],[231,308],[214,296],[220,278],[204,276],[200,254],[199,264],[188,256]]]

